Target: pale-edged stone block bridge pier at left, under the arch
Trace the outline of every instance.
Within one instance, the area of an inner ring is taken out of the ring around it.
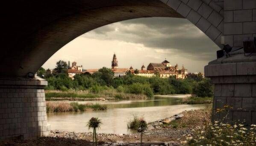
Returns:
[[[45,85],[40,78],[0,78],[0,140],[48,134]]]

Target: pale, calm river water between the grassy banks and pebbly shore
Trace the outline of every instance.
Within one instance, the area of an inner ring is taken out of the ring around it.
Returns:
[[[102,120],[99,133],[130,134],[135,131],[127,128],[127,122],[132,119],[133,115],[143,116],[147,122],[153,122],[185,110],[212,106],[211,104],[181,104],[183,96],[155,96],[147,100],[99,101],[95,103],[106,104],[108,107],[106,111],[49,113],[47,119],[52,130],[88,132],[88,127],[86,127],[88,120],[91,117],[99,117]]]

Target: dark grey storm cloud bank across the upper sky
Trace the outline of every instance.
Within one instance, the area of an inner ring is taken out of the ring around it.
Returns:
[[[196,60],[212,60],[218,46],[194,24],[181,18],[139,18],[94,29],[87,38],[118,40],[145,47],[185,53]]]

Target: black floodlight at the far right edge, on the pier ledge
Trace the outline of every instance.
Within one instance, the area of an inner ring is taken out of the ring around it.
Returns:
[[[244,38],[244,54],[245,53],[256,53],[256,38],[255,37],[248,37]]]

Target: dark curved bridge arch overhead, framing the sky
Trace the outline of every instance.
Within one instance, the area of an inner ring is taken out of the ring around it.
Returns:
[[[68,42],[97,27],[142,17],[187,18],[221,47],[223,9],[207,0],[90,0],[26,1],[6,22],[1,76],[24,77],[35,73]],[[20,14],[19,14],[20,13]],[[10,35],[11,34],[11,35]],[[15,34],[15,36],[13,36]],[[9,67],[9,68],[8,68]]]

